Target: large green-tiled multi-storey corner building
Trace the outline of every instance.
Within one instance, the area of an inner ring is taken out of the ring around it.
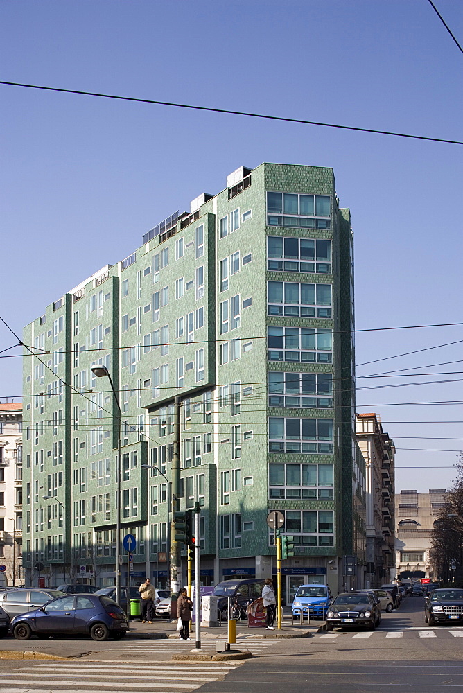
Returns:
[[[365,562],[352,330],[349,210],[333,170],[313,166],[239,168],[49,305],[24,330],[37,349],[24,371],[28,578],[55,584],[66,563],[69,579],[114,583],[118,412],[99,363],[121,400],[134,581],[167,580],[162,475],[180,395],[182,509],[202,506],[202,582],[276,572],[265,520],[279,509],[296,543],[287,599],[304,581],[337,590],[342,556]]]

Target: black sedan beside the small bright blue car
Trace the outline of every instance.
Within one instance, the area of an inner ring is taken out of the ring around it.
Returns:
[[[345,592],[333,599],[326,612],[326,630],[335,626],[365,626],[374,631],[381,623],[381,607],[374,595],[367,592]]]

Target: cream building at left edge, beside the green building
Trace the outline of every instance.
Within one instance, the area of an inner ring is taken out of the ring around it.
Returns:
[[[22,404],[0,404],[0,587],[22,583]]]

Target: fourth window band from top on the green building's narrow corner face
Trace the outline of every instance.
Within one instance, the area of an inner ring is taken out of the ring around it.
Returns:
[[[268,360],[331,363],[333,332],[322,328],[269,327]]]

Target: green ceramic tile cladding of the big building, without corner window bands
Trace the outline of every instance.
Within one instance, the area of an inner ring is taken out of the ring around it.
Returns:
[[[331,229],[268,226],[267,191],[330,195]],[[97,580],[114,570],[119,414],[109,380],[91,372],[96,363],[109,369],[119,394],[121,522],[123,533],[136,534],[141,545],[134,559],[139,570],[152,574],[157,552],[168,549],[165,480],[141,464],[154,464],[171,478],[175,395],[182,398],[181,505],[191,507],[200,494],[205,565],[218,556],[222,568],[237,559],[252,566],[255,556],[274,554],[265,523],[272,509],[333,511],[333,546],[301,546],[297,555],[355,552],[362,559],[364,470],[352,428],[349,211],[338,209],[331,168],[261,164],[252,170],[251,184],[234,193],[225,188],[190,223],[180,220],[125,261],[105,267],[24,329],[24,344],[35,351],[24,351],[24,563],[32,579],[37,561],[45,571],[54,564],[59,574],[63,542],[74,577],[82,564],[93,566]],[[220,221],[225,218],[227,234]],[[331,240],[331,274],[268,270],[267,236]],[[227,286],[220,281],[225,258]],[[232,263],[238,270],[233,273]],[[267,281],[332,283],[331,318],[268,315]],[[331,328],[333,361],[269,362],[268,326]],[[332,374],[332,407],[269,408],[268,371]],[[268,416],[333,419],[333,453],[269,453]],[[281,462],[333,464],[332,500],[269,500],[268,466]],[[222,487],[226,472],[228,491]],[[44,495],[55,495],[64,517]]]

